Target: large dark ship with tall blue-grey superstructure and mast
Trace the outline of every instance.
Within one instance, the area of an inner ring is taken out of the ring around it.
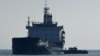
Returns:
[[[49,7],[44,7],[44,21],[30,22],[28,17],[27,37],[12,38],[12,51],[16,55],[41,55],[41,54],[64,54],[65,31],[63,26],[58,26],[52,21]],[[30,25],[32,24],[32,26]]]

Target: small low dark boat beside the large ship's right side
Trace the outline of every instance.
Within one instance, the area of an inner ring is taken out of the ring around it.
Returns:
[[[64,54],[88,54],[88,51],[78,50],[76,47],[70,47],[68,50],[64,50]]]

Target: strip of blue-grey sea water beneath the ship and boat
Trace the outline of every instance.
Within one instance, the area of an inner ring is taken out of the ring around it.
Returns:
[[[89,50],[88,54],[64,54],[64,55],[13,55],[11,50],[0,50],[0,56],[100,56],[100,50]]]

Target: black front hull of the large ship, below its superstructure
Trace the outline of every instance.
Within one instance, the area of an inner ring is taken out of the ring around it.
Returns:
[[[15,55],[50,54],[45,46],[37,46],[38,38],[13,38],[12,51]]]

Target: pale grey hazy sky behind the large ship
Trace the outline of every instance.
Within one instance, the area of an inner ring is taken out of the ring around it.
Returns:
[[[66,31],[65,47],[100,49],[100,0],[49,0],[53,20]],[[44,0],[0,0],[0,49],[27,36],[27,17],[43,21]]]

